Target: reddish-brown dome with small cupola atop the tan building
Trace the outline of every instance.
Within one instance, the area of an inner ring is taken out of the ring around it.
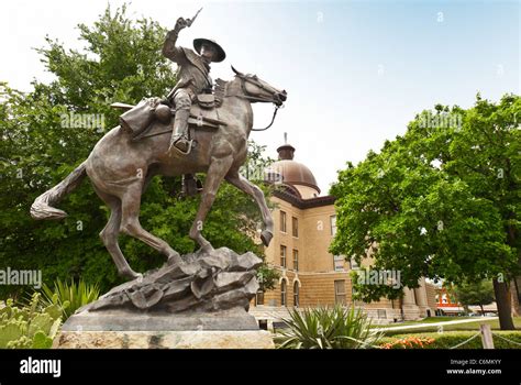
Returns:
[[[267,169],[268,182],[281,182],[290,186],[307,186],[320,194],[317,179],[308,166],[293,161],[295,147],[285,144],[277,148],[279,161],[273,163]],[[299,189],[300,190],[300,189]],[[304,194],[308,195],[308,194]]]

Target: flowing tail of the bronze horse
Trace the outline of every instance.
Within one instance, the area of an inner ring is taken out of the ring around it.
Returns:
[[[67,217],[67,212],[55,209],[53,205],[70,194],[84,180],[87,175],[86,163],[87,161],[81,163],[64,180],[37,197],[31,206],[31,217],[34,219],[62,219]]]

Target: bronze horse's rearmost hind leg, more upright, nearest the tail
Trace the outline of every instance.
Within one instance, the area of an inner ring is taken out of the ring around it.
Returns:
[[[107,194],[99,191],[98,189],[96,193],[104,200],[107,206],[110,208],[110,218],[107,222],[107,226],[101,230],[100,238],[103,242],[104,246],[109,251],[112,260],[115,263],[118,268],[118,273],[126,278],[135,279],[141,277],[142,275],[135,273],[129,263],[126,262],[123,253],[120,250],[120,245],[118,244],[118,237],[120,234],[120,224],[121,224],[121,201],[114,197]]]

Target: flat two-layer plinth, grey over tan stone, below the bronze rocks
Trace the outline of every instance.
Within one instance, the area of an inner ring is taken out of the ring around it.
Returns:
[[[54,340],[57,349],[274,349],[244,309],[171,315],[135,310],[81,311]]]

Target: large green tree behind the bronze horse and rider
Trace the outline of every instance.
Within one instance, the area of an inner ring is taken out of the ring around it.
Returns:
[[[44,282],[82,278],[99,283],[101,293],[121,283],[98,233],[108,209],[91,186],[84,183],[62,204],[69,217],[59,222],[35,221],[33,200],[51,188],[90,153],[98,140],[118,124],[114,101],[136,103],[144,97],[164,96],[176,84],[160,48],[166,29],[148,19],[132,21],[126,8],[108,8],[91,26],[79,25],[81,52],[46,38],[42,62],[54,74],[49,84],[33,81],[27,94],[0,84],[0,267],[42,270]],[[70,113],[101,116],[98,127],[63,124]],[[104,124],[103,124],[104,123]],[[253,145],[252,162],[263,158]],[[141,222],[180,253],[195,243],[188,231],[200,198],[178,199],[180,178],[156,177],[143,196]],[[265,189],[266,193],[269,193]],[[253,200],[223,185],[204,227],[214,246],[237,253],[263,249],[250,237],[260,221]],[[246,230],[251,230],[250,232]],[[122,235],[120,244],[136,271],[164,263],[153,249]],[[1,287],[0,295],[16,295],[20,287]],[[20,294],[20,293],[18,293]]]

